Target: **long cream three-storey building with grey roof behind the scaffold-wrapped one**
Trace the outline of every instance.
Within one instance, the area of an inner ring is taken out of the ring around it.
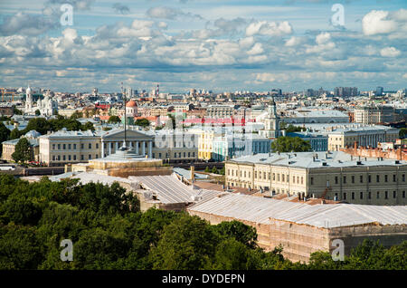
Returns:
[[[407,162],[345,152],[270,153],[226,161],[232,187],[365,205],[406,205]]]

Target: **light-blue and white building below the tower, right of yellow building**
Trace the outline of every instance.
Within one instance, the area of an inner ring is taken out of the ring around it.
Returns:
[[[213,139],[212,158],[215,161],[224,161],[226,158],[269,153],[270,147],[271,139],[262,138],[257,134],[217,137]]]

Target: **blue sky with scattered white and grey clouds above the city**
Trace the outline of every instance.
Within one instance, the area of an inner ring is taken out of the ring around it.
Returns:
[[[405,0],[0,0],[1,87],[396,91],[406,52]]]

